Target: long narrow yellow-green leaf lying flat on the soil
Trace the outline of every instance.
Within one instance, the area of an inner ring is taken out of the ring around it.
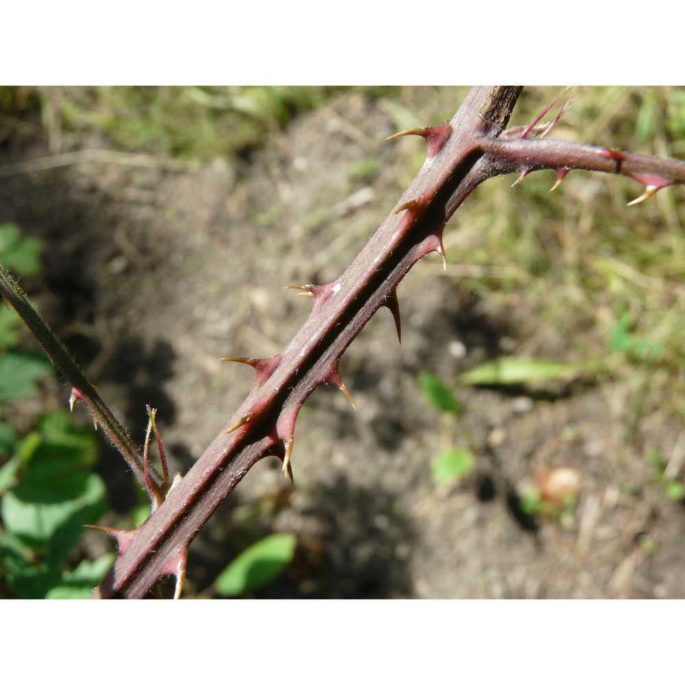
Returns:
[[[574,378],[601,368],[600,362],[580,364],[548,362],[525,357],[502,357],[484,362],[458,376],[463,385],[514,385],[551,380],[571,381]]]

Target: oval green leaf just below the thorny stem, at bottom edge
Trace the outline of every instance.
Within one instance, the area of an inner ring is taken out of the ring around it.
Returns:
[[[216,579],[221,595],[234,597],[271,582],[295,556],[297,537],[275,533],[242,551]]]

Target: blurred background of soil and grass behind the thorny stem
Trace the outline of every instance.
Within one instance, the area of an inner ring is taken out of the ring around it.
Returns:
[[[526,89],[511,124],[560,90]],[[45,245],[21,284],[139,443],[158,409],[184,473],[251,386],[219,358],[288,343],[310,301],[284,286],[340,275],[421,166],[421,139],[384,139],[466,92],[3,88],[0,223]],[[552,136],[684,158],[685,91],[580,88]],[[426,258],[399,288],[401,345],[382,310],[345,354],[357,411],[312,395],[295,488],[275,458],[245,477],[190,547],[187,597],[272,532],[295,558],[249,596],[685,597],[685,191],[627,208],[632,179],[555,179],[494,179],[458,210],[446,273]],[[55,377],[40,403],[68,399]],[[21,434],[35,403],[3,419]],[[99,438],[100,523],[132,525],[140,487]],[[88,531],[72,562],[112,549]]]

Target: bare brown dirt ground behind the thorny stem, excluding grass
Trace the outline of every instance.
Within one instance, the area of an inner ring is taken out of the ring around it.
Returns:
[[[145,404],[158,408],[185,471],[249,390],[250,370],[219,358],[282,349],[309,306],[283,286],[336,277],[393,208],[406,159],[380,141],[395,129],[382,106],[347,95],[249,160],[197,173],[92,162],[1,179],[0,221],[47,240],[45,275],[29,284],[40,310],[141,441]],[[382,171],[355,180],[368,158]],[[474,389],[457,435],[427,406],[419,372],[449,378],[519,349],[536,321],[525,306],[479,299],[431,260],[399,297],[402,345],[384,310],[343,360],[358,411],[337,390],[314,393],[297,425],[296,488],[275,459],[247,475],[192,544],[190,595],[249,541],[283,530],[299,536],[297,559],[259,596],[684,597],[685,510],[638,449],[651,440],[673,452],[677,423],[646,417],[626,443],[625,390],[609,382],[553,395]],[[463,435],[476,473],[436,486],[432,457]],[[125,510],[134,486],[103,449]],[[562,521],[517,506],[545,465],[582,475]]]

